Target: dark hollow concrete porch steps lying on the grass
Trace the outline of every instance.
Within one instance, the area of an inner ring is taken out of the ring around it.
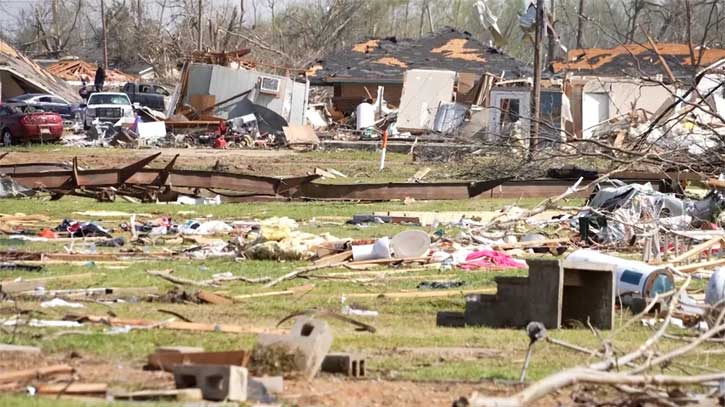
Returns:
[[[525,327],[540,321],[547,328],[587,321],[595,328],[614,327],[614,268],[610,265],[527,260],[527,277],[496,277],[496,294],[466,298],[463,313],[441,312],[437,325]]]

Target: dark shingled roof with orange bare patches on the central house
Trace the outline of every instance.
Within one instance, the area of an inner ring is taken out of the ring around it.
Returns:
[[[403,83],[408,69],[442,69],[506,78],[530,76],[526,63],[502,54],[468,32],[445,27],[419,39],[369,38],[349,49],[334,51],[307,71],[313,85],[336,82]]]

